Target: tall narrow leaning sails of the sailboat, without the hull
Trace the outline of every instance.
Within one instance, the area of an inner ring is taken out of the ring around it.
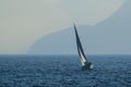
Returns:
[[[79,52],[79,54],[80,54],[81,63],[82,63],[82,65],[84,66],[84,65],[86,65],[86,63],[87,63],[87,59],[86,59],[86,57],[85,57],[85,54],[84,54],[84,51],[83,51],[82,44],[81,44],[80,38],[79,38],[79,34],[78,34],[75,24],[74,24],[74,30],[75,30],[75,37],[76,37],[78,52]]]

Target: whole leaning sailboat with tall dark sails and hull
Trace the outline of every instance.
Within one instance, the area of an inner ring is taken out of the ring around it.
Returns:
[[[82,64],[82,70],[84,70],[84,71],[85,70],[93,70],[94,69],[93,63],[87,61],[87,58],[85,57],[85,53],[83,51],[83,47],[82,47],[79,34],[78,34],[75,24],[73,26],[74,26],[76,47],[78,47],[78,52],[79,52],[81,64]]]

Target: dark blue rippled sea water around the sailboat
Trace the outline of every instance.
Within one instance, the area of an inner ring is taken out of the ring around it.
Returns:
[[[0,55],[0,87],[131,87],[131,55],[90,55],[93,71],[78,57]]]

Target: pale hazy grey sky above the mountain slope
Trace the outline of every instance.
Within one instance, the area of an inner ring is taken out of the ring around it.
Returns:
[[[78,25],[95,26],[124,0],[0,0],[0,54],[24,54],[53,32]]]

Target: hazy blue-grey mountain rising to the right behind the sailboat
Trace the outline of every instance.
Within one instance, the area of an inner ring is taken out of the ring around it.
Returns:
[[[78,32],[87,54],[131,54],[131,0],[108,20],[96,26],[78,26]],[[39,39],[28,54],[75,54],[73,27]]]

